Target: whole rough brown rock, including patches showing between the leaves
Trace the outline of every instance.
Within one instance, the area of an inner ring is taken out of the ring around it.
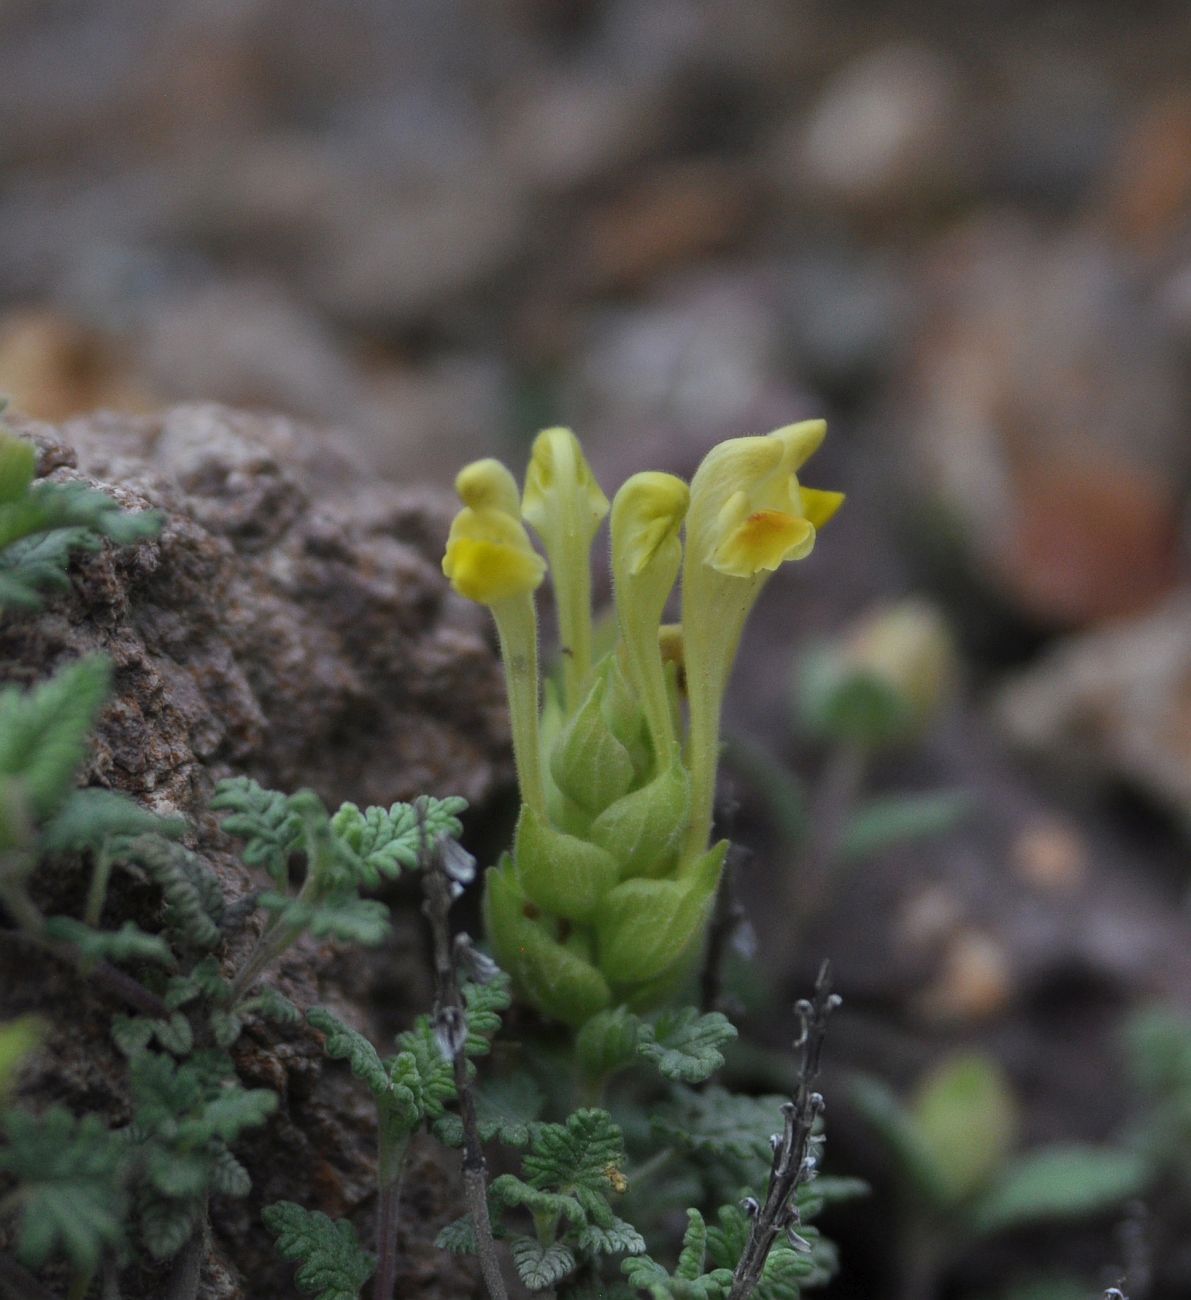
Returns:
[[[92,650],[109,655],[114,693],[87,777],[186,815],[189,842],[229,896],[252,884],[204,811],[221,776],[247,772],[281,789],[312,786],[332,805],[365,805],[420,792],[482,800],[510,775],[497,659],[482,621],[438,573],[445,499],[369,480],[329,434],[221,407],[100,415],[62,429],[9,424],[36,441],[43,474],[82,477],[130,510],[166,517],[153,542],[82,556],[72,589],[36,615],[7,616],[0,681],[34,681]],[[55,910],[77,910],[78,884],[40,888]],[[118,879],[107,919],[151,922],[159,906],[152,889]],[[278,985],[299,1006],[332,1005],[384,1046],[429,1004],[416,909],[397,907],[394,920],[374,953],[298,945]],[[0,942],[0,1019],[36,1010],[49,1024],[26,1079],[31,1100],[126,1118],[111,998],[14,940]],[[277,1088],[282,1104],[242,1147],[251,1197],[212,1205],[200,1295],[281,1300],[296,1295],[293,1269],[272,1254],[260,1206],[289,1197],[346,1214],[367,1239],[371,1102],[308,1031],[252,1026],[235,1054],[248,1086]],[[451,1179],[415,1156],[399,1294],[471,1294],[430,1245],[458,1213]],[[160,1295],[163,1284],[144,1278],[125,1295]]]

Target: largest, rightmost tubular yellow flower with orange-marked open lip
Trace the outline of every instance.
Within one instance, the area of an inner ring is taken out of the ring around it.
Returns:
[[[687,853],[706,846],[724,686],[745,619],[785,560],[805,559],[840,493],[802,488],[797,472],[827,425],[806,420],[714,447],[690,484],[683,568],[683,634],[690,701],[692,815]]]

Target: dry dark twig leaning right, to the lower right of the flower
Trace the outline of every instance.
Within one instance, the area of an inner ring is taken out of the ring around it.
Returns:
[[[815,1092],[823,1036],[827,1020],[840,1005],[840,997],[831,992],[831,963],[823,962],[815,979],[814,997],[800,1001],[794,1010],[801,1020],[801,1031],[794,1041],[800,1053],[798,1074],[793,1097],[781,1108],[783,1132],[774,1139],[774,1165],[765,1204],[748,1204],[753,1216],[749,1238],[732,1275],[728,1300],[748,1300],[757,1290],[765,1273],[765,1262],[778,1236],[785,1232],[794,1249],[810,1249],[798,1235],[801,1219],[796,1193],[802,1183],[809,1183],[818,1166],[814,1147],[814,1126],[823,1113],[823,1097]]]

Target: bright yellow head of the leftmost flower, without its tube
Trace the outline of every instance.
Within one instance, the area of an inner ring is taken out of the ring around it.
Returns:
[[[459,472],[455,489],[464,507],[451,524],[442,559],[451,586],[480,604],[498,604],[536,590],[546,562],[517,519],[512,474],[499,460],[477,460]]]

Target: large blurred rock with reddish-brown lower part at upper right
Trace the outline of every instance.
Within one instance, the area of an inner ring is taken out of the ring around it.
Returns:
[[[1101,234],[1008,213],[952,233],[926,283],[889,415],[919,495],[1044,627],[1153,604],[1175,577],[1188,445],[1184,370],[1147,285]]]

